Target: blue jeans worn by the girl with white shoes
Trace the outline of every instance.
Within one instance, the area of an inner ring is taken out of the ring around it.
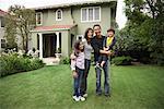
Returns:
[[[82,76],[84,73],[84,70],[79,69],[78,66],[75,66],[75,72],[78,73],[78,77],[74,77],[74,94],[73,96],[81,96],[81,82],[82,82]]]

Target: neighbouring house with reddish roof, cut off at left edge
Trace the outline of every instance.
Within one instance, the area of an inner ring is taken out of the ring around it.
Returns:
[[[0,52],[5,48],[5,38],[4,38],[4,15],[7,12],[0,10]]]

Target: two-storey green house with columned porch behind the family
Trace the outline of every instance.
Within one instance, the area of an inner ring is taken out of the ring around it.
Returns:
[[[61,52],[68,57],[74,40],[83,38],[87,27],[102,26],[105,35],[113,26],[117,0],[93,0],[35,8],[36,27],[32,31],[30,49],[39,49],[39,58]]]

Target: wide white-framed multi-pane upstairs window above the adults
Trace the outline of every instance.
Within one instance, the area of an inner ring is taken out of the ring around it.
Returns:
[[[82,8],[81,9],[81,22],[99,22],[101,21],[101,8]]]

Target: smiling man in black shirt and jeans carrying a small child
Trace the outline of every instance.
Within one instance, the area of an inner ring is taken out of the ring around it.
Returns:
[[[95,58],[94,61],[95,63],[97,63],[98,57],[101,56],[101,53],[110,56],[112,52],[103,50],[103,41],[105,39],[105,36],[101,34],[101,31],[102,31],[101,25],[98,24],[94,25],[93,31],[94,31],[95,36],[93,37],[91,45],[94,49],[94,58]],[[107,59],[107,62],[105,62],[103,66],[103,71],[104,71],[104,77],[105,77],[105,82],[104,82],[105,96],[110,96],[109,95],[109,80],[108,80],[108,59]],[[99,68],[95,68],[95,72],[96,72],[96,95],[102,95],[102,88],[101,88],[102,70]]]

